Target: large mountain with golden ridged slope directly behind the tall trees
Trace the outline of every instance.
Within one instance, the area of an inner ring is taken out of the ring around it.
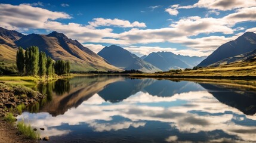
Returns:
[[[121,70],[107,63],[106,60],[82,46],[78,41],[67,38],[63,33],[30,34],[23,36],[15,43],[25,49],[29,46],[38,46],[39,51],[44,51],[53,60],[69,60],[71,71]]]

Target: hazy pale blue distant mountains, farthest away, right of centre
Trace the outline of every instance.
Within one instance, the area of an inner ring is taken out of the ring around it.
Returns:
[[[172,52],[152,52],[144,61],[153,64],[163,71],[170,69],[186,69],[193,68],[199,64],[205,57],[189,57],[184,55],[175,55]]]

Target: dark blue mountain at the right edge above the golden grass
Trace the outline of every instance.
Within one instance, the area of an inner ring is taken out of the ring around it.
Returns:
[[[235,41],[224,43],[203,60],[198,67],[220,66],[248,61],[255,57],[256,34],[246,32]]]

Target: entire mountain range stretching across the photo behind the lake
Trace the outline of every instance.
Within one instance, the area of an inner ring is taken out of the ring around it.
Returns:
[[[121,46],[111,45],[95,54],[76,40],[63,33],[48,35],[23,35],[15,30],[0,27],[0,61],[7,66],[15,63],[18,46],[26,49],[38,46],[53,60],[69,60],[71,71],[121,71],[144,72],[168,71],[208,66],[222,66],[237,62],[246,63],[256,59],[256,34],[246,32],[234,41],[224,43],[208,57],[189,57],[172,52],[152,52],[138,57]]]

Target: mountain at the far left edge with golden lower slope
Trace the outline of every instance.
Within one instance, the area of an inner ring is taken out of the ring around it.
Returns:
[[[23,36],[23,34],[17,31],[0,27],[0,61],[2,63],[11,64],[16,61],[17,46],[14,41]]]

